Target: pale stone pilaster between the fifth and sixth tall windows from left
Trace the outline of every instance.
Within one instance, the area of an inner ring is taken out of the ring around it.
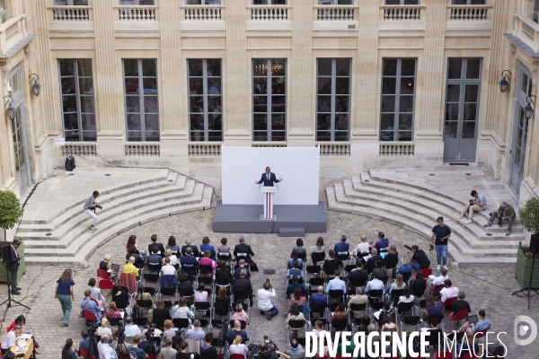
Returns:
[[[378,166],[378,25],[380,1],[362,0],[359,8],[358,59],[352,64],[350,171],[358,175]]]

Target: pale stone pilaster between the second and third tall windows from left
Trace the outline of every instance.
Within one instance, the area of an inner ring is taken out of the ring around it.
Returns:
[[[181,10],[177,0],[159,1],[161,59],[159,99],[161,113],[161,166],[187,166],[189,119],[186,104],[186,66],[181,57]]]

